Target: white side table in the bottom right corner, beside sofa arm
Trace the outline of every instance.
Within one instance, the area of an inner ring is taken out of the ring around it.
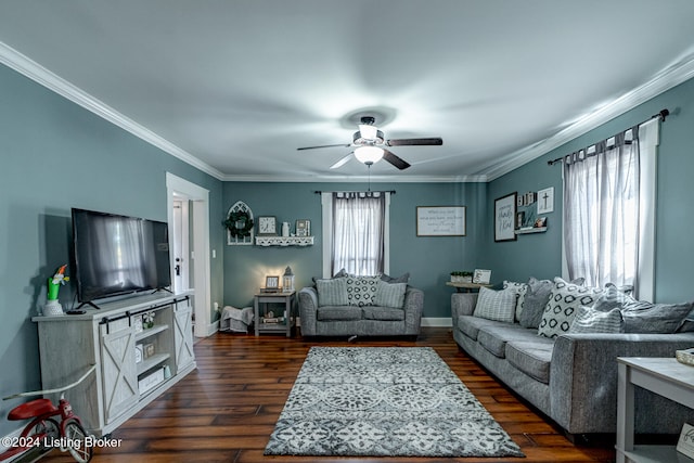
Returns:
[[[671,446],[634,446],[634,386],[694,409],[694,366],[674,358],[617,358],[617,462],[691,461]]]

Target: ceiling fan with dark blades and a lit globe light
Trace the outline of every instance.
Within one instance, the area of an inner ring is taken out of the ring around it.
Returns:
[[[323,144],[319,146],[305,146],[298,147],[298,151],[303,150],[317,150],[321,147],[355,147],[355,151],[348,153],[345,157],[339,159],[337,163],[330,166],[331,169],[336,169],[347,163],[351,155],[365,164],[367,166],[371,166],[374,163],[377,163],[381,159],[385,159],[386,162],[393,164],[398,169],[407,169],[410,167],[406,160],[396,156],[387,147],[389,146],[424,146],[424,145],[441,145],[444,144],[444,140],[440,138],[422,138],[422,139],[396,139],[396,140],[386,140],[383,132],[378,130],[374,123],[376,119],[372,116],[362,116],[361,124],[359,124],[359,130],[357,130],[352,137],[352,142],[349,144]]]

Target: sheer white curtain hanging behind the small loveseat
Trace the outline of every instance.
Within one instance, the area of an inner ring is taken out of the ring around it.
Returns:
[[[384,272],[386,195],[380,192],[333,193],[331,273]]]

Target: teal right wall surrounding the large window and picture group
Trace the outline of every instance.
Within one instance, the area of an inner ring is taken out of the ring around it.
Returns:
[[[653,98],[590,132],[551,151],[489,183],[488,210],[493,200],[517,191],[554,187],[554,213],[548,214],[547,233],[518,236],[515,242],[485,243],[496,281],[525,281],[528,276],[553,278],[562,271],[562,166],[548,166],[549,159],[564,156],[634,126],[660,110],[671,115],[661,125],[658,152],[658,194],[656,223],[656,301],[694,299],[694,80]],[[487,223],[492,227],[492,216]]]

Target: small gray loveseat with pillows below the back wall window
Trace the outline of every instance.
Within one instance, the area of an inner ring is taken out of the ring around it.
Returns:
[[[391,279],[316,279],[298,293],[303,336],[413,336],[420,333],[424,293]]]

